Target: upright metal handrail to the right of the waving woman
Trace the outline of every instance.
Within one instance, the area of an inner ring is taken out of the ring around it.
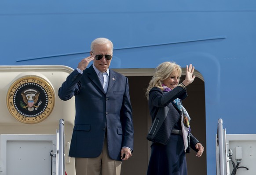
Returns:
[[[219,175],[225,175],[224,167],[224,143],[223,143],[223,121],[218,119],[217,144],[219,144]],[[226,144],[226,143],[225,143]]]

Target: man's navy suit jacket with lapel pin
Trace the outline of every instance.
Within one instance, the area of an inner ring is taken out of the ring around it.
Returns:
[[[121,148],[133,151],[132,106],[128,78],[109,69],[105,93],[92,65],[83,74],[74,70],[59,88],[59,98],[75,96],[76,116],[69,156],[96,158],[102,152],[105,132],[113,160],[121,161]]]

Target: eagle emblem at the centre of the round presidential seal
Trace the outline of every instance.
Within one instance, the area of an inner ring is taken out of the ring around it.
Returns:
[[[21,101],[20,102],[21,107],[27,109],[30,112],[33,110],[37,110],[38,107],[42,104],[41,101],[38,102],[37,104],[40,92],[37,91],[36,89],[26,89],[25,91],[22,91],[21,95],[22,95],[23,102],[25,103],[24,104]]]

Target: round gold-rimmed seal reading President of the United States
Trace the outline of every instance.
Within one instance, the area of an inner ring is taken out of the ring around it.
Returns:
[[[15,81],[7,93],[11,115],[22,123],[39,123],[46,119],[54,106],[51,85],[40,77],[23,77]]]

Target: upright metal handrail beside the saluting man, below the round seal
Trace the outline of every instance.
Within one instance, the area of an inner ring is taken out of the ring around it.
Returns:
[[[59,175],[65,175],[65,135],[64,120],[59,120]]]

